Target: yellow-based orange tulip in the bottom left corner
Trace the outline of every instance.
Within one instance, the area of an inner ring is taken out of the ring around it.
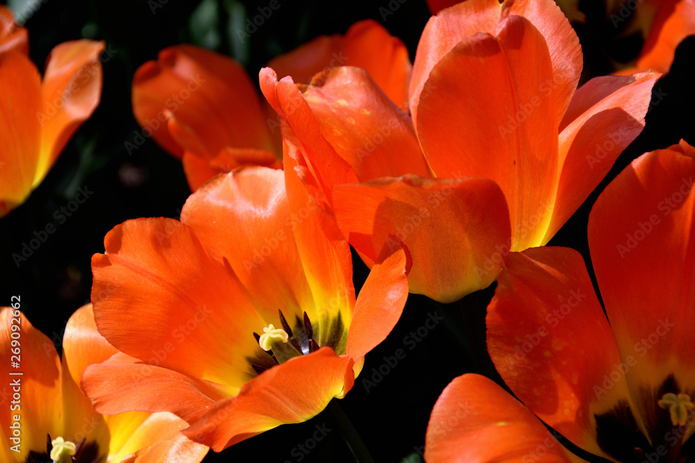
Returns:
[[[168,413],[101,416],[79,388],[88,364],[116,353],[99,335],[92,308],[77,310],[65,326],[63,359],[21,308],[0,312],[3,358],[3,462],[198,463],[206,446],[183,437],[186,422]]]

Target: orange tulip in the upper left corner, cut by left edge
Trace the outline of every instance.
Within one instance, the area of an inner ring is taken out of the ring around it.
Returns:
[[[99,104],[102,42],[58,45],[43,81],[27,56],[26,29],[0,6],[0,217],[42,182],[77,128]]]

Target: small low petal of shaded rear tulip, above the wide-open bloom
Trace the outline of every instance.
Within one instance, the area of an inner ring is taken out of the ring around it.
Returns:
[[[255,148],[230,148],[220,150],[213,158],[206,158],[186,151],[183,153],[183,171],[192,192],[202,187],[218,174],[226,174],[237,167],[263,166],[282,169],[282,161],[272,151]]]

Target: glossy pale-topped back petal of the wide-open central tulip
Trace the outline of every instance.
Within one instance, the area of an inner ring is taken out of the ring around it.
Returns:
[[[283,176],[263,167],[219,176],[192,194],[181,211],[181,221],[208,253],[229,262],[262,317],[265,324],[245,334],[250,339],[268,323],[277,326],[278,310],[289,319],[290,313],[301,317],[302,308],[313,305]]]

